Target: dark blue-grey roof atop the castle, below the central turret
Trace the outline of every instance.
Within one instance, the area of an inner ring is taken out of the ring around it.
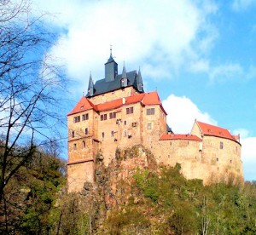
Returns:
[[[137,72],[136,71],[131,71],[131,72],[127,72],[127,79],[128,79],[128,83],[127,83],[127,87],[133,86],[135,89],[137,89],[137,91],[139,91],[139,89],[137,88]],[[117,75],[113,81],[109,81],[106,82],[105,78],[96,81],[96,83],[94,84],[94,94],[95,95],[101,95],[110,91],[114,91],[116,89],[121,89],[121,79],[122,79],[122,74]],[[139,92],[144,92],[139,91]],[[90,96],[90,95],[87,95]]]

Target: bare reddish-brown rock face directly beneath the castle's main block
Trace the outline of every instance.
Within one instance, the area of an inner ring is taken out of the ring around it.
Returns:
[[[134,198],[133,175],[137,170],[157,169],[154,156],[143,146],[132,146],[123,151],[117,148],[108,168],[102,163],[101,155],[96,160],[97,189],[107,210],[119,208]]]

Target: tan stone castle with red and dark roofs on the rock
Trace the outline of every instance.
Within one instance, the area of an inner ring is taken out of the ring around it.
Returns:
[[[156,91],[144,92],[140,70],[118,74],[112,52],[105,64],[105,78],[67,114],[68,192],[79,192],[84,182],[95,181],[96,155],[108,166],[117,147],[143,145],[158,164],[181,164],[188,179],[204,183],[243,179],[239,135],[228,129],[195,120],[189,135],[177,135],[166,123],[166,111]]]

